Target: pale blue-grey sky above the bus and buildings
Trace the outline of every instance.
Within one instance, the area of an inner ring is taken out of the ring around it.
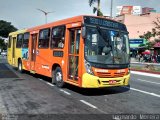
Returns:
[[[94,15],[89,0],[0,0],[0,20],[11,22],[18,29],[45,24],[45,15],[37,9],[52,12],[47,22],[78,15]],[[151,7],[160,13],[160,0],[113,0],[113,16],[116,6],[135,5]],[[96,6],[96,4],[95,4]],[[101,11],[110,15],[111,0],[101,0]]]

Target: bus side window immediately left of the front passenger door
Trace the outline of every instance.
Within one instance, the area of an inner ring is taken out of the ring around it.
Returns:
[[[52,29],[51,48],[63,48],[65,43],[65,26]]]

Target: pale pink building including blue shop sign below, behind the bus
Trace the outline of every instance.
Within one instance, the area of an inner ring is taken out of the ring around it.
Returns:
[[[155,28],[153,21],[160,18],[160,13],[146,13],[140,15],[123,14],[117,16],[115,20],[124,23],[129,31],[131,51],[136,51],[140,44],[146,44],[146,40],[141,39],[139,36]],[[151,39],[152,40],[152,39]],[[156,46],[156,48],[160,46]]]

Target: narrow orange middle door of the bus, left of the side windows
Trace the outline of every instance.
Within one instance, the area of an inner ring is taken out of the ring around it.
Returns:
[[[32,71],[35,71],[36,44],[37,44],[37,34],[32,34],[31,35],[31,64],[30,64],[30,70]]]

